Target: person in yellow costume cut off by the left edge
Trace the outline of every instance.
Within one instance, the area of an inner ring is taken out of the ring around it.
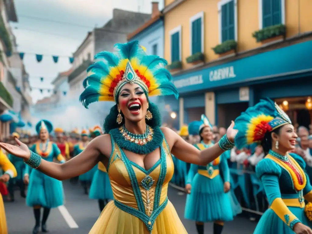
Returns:
[[[4,171],[4,174],[0,176],[1,182],[7,183],[10,180],[10,178],[15,178],[17,176],[15,167],[7,158],[7,156],[2,152],[1,148],[0,148],[0,167]],[[7,234],[7,220],[5,217],[5,210],[1,193],[0,193],[0,233]]]

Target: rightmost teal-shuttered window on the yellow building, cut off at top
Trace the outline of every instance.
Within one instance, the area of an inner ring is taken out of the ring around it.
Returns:
[[[260,0],[261,6],[259,7],[262,9],[262,13],[260,12],[262,19],[259,19],[259,21],[262,23],[262,27],[260,28],[265,28],[277,24],[284,24],[284,1],[285,0]]]

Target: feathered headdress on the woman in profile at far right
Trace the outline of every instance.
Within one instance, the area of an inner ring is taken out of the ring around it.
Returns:
[[[235,119],[235,137],[237,149],[254,143],[260,143],[267,131],[291,124],[290,118],[271,99],[260,100],[256,105],[249,107]]]

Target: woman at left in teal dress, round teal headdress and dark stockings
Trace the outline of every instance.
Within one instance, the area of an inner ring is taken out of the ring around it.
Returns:
[[[34,144],[30,150],[40,155],[46,161],[52,162],[53,158],[56,158],[60,163],[65,163],[65,158],[61,155],[61,150],[55,143],[49,141],[49,134],[52,130],[53,126],[51,122],[48,120],[39,121],[36,124],[36,131],[39,135],[40,142]],[[30,176],[26,204],[34,208],[36,221],[32,233],[37,234],[39,232],[41,207],[43,207],[41,231],[47,232],[46,221],[51,208],[63,205],[64,192],[62,182],[26,166],[24,174],[25,181],[28,181],[28,175]]]

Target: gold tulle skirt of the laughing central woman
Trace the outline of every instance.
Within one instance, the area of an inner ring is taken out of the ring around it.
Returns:
[[[109,202],[95,222],[89,234],[149,234],[144,222],[117,208]],[[172,203],[158,215],[152,234],[185,234],[187,233]]]

